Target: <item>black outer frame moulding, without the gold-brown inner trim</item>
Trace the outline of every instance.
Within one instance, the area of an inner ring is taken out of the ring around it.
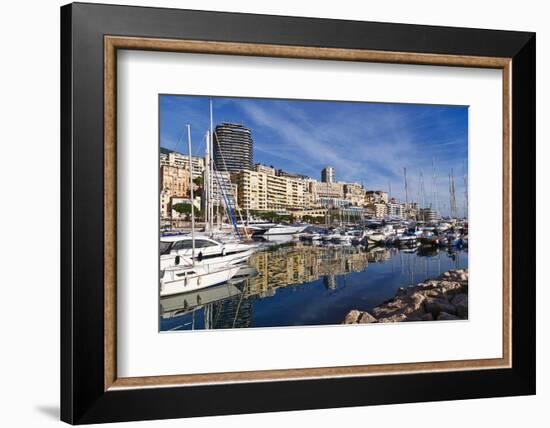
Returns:
[[[512,58],[512,368],[104,391],[103,37]],[[535,34],[74,3],[61,8],[61,419],[72,424],[535,393]]]

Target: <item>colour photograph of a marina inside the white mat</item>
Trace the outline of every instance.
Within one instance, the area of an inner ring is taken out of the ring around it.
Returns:
[[[159,95],[160,331],[468,319],[468,106]]]

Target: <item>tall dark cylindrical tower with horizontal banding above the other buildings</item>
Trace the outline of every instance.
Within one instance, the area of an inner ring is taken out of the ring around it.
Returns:
[[[230,173],[253,169],[252,134],[245,126],[228,122],[216,126],[213,145],[216,169]]]

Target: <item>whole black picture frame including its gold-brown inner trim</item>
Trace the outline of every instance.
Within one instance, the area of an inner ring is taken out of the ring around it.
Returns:
[[[119,378],[116,53],[122,49],[501,69],[502,358]],[[85,424],[534,394],[535,96],[533,33],[63,6],[61,419]]]

